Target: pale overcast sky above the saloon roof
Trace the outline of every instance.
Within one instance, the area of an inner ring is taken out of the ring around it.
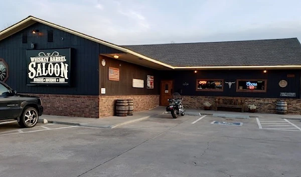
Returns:
[[[301,1],[0,0],[0,29],[28,16],[117,44],[301,39]]]

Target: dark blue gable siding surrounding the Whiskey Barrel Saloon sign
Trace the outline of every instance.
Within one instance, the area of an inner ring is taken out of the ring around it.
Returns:
[[[35,29],[41,34],[32,34],[32,30]],[[54,31],[52,43],[47,42],[47,30]],[[22,44],[24,31],[28,33],[28,44]],[[73,49],[70,87],[26,85],[28,65],[26,50],[31,49],[32,42],[36,45],[35,49]],[[0,58],[4,58],[10,67],[10,77],[6,82],[22,93],[98,95],[100,53],[120,53],[120,51],[40,23],[0,41]]]

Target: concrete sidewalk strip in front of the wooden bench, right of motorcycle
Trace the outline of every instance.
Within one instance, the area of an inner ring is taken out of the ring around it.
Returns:
[[[269,117],[269,118],[284,118],[291,120],[300,120],[301,115],[297,114],[270,114],[270,113],[250,113],[250,112],[232,112],[232,111],[205,111],[200,109],[186,109],[186,115],[212,115],[212,116],[225,116],[234,118],[250,118],[250,117]]]

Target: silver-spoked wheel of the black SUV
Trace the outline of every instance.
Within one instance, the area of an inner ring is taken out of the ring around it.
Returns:
[[[25,107],[20,117],[19,125],[22,128],[31,128],[37,124],[38,119],[39,119],[39,114],[37,109],[33,107]]]

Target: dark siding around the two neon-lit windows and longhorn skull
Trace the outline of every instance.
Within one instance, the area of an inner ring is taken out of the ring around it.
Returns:
[[[294,77],[287,77],[287,74],[294,74]],[[163,71],[163,79],[174,79],[175,91],[182,91],[183,95],[190,96],[233,96],[233,97],[261,97],[261,98],[284,98],[280,92],[294,92],[300,98],[300,70],[211,70],[211,71]],[[224,83],[223,92],[196,91],[196,79],[224,79],[224,82],[236,82],[236,79],[266,79],[267,90],[264,93],[236,92],[236,84],[229,88]],[[279,87],[280,80],[286,80],[287,86]],[[183,83],[188,86],[183,86]],[[289,98],[289,97],[288,97]]]

